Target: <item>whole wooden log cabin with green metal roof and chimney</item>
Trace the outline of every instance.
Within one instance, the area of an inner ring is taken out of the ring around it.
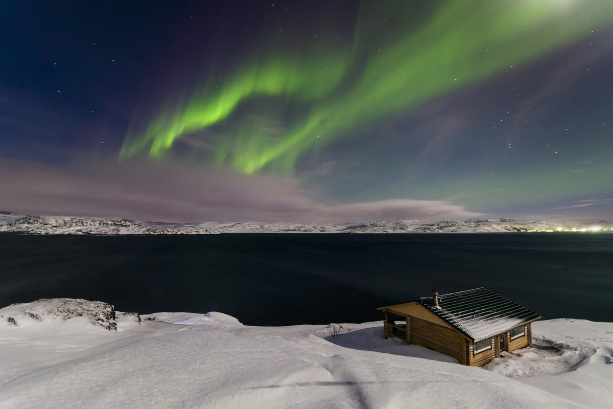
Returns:
[[[425,346],[480,366],[501,351],[532,345],[532,323],[541,316],[487,288],[422,297],[380,307],[384,336]]]

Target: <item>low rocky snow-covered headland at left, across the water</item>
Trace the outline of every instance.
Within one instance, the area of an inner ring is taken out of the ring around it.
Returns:
[[[29,234],[217,234],[184,224],[139,223],[128,219],[22,216],[0,220],[0,231]]]

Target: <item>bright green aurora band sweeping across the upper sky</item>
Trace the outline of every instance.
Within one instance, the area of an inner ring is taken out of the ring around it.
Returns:
[[[411,15],[408,1],[386,2],[386,10],[374,3],[360,10],[349,47],[325,40],[276,47],[226,67],[221,78],[209,73],[204,86],[174,107],[167,103],[145,132],[129,132],[120,159],[147,150],[159,157],[177,138],[226,123],[232,130],[215,142],[217,164],[246,174],[264,167],[291,173],[302,153],[333,138],[516,69],[613,22],[611,0],[449,0],[425,23],[410,24],[402,20]],[[378,37],[386,39],[373,47]],[[254,126],[245,107],[262,98],[282,102],[275,118],[300,115],[281,134]]]

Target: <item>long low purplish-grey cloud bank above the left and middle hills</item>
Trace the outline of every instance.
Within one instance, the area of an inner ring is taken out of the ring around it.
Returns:
[[[313,199],[296,178],[178,162],[55,166],[0,158],[0,175],[0,209],[34,215],[319,223],[481,215],[444,200],[329,204]]]

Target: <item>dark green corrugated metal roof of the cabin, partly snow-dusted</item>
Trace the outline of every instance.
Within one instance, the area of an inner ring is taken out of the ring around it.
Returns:
[[[541,318],[537,313],[499,296],[487,288],[475,288],[417,300],[462,334],[479,341]]]

